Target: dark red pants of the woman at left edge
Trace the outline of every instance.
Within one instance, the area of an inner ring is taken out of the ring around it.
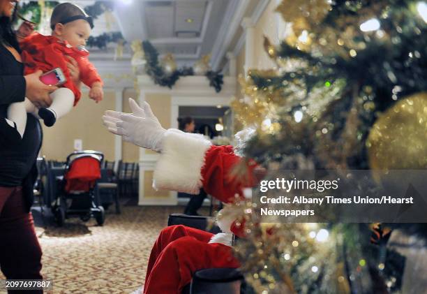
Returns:
[[[42,252],[21,187],[0,186],[0,267],[6,279],[43,279]],[[19,291],[10,291],[19,293]],[[43,293],[43,291],[22,291]]]

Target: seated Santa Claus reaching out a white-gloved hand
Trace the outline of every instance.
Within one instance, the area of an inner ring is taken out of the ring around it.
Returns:
[[[129,104],[133,113],[109,110],[103,121],[110,132],[123,136],[123,140],[160,152],[153,175],[156,189],[198,194],[203,188],[223,203],[232,203],[234,198],[244,197],[245,187],[255,184],[253,162],[246,163],[248,177],[232,176],[232,169],[241,162],[234,147],[213,146],[202,135],[165,130],[147,102],[141,108],[130,98]],[[238,133],[238,140],[244,142],[241,139],[248,133]],[[223,233],[216,235],[186,226],[164,228],[151,250],[143,293],[181,293],[197,270],[239,267],[231,248],[232,233],[241,231],[236,218],[220,212],[218,225]]]

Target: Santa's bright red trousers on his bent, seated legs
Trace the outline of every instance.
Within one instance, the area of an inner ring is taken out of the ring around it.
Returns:
[[[211,237],[211,233],[186,226],[164,228],[151,249],[144,294],[181,293],[197,270],[239,267],[231,247],[208,244]]]

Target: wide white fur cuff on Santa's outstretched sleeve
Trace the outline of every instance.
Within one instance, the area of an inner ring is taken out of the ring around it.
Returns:
[[[153,188],[197,194],[202,186],[204,156],[211,142],[202,135],[169,129],[153,175]]]

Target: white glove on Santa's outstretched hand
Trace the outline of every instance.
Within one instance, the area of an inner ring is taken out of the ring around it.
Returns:
[[[108,131],[122,135],[123,140],[127,142],[161,152],[166,130],[151,111],[149,103],[144,101],[140,108],[132,98],[129,98],[129,105],[132,114],[112,110],[105,112],[103,121]]]

